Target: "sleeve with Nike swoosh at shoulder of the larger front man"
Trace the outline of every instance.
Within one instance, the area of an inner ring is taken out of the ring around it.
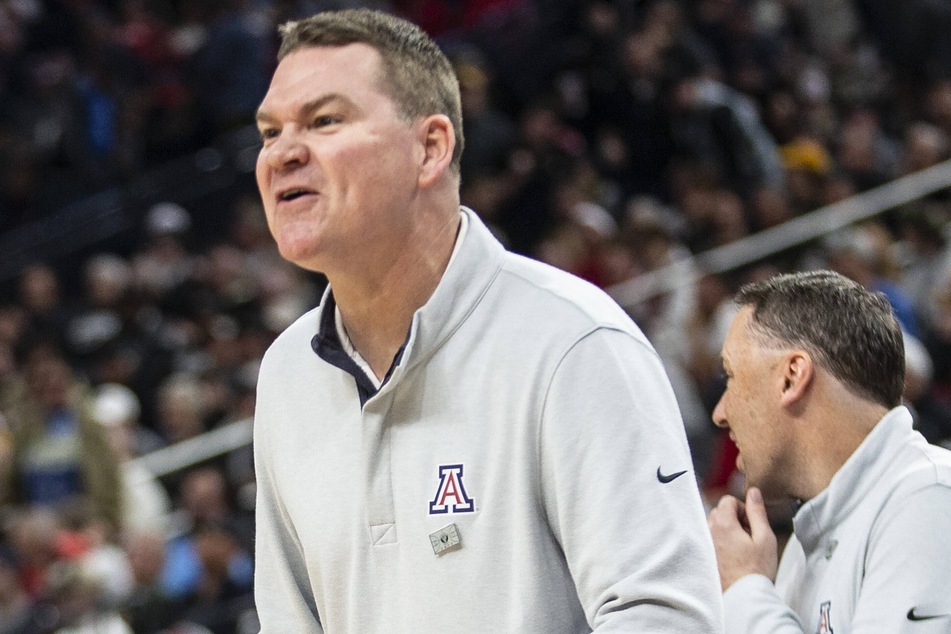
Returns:
[[[554,372],[539,434],[548,520],[592,629],[722,632],[683,423],[646,340],[602,328],[577,341]]]

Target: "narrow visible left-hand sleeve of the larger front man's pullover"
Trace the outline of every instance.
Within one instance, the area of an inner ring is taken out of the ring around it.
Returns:
[[[304,552],[274,481],[266,425],[259,410],[254,425],[254,602],[260,634],[322,634]]]

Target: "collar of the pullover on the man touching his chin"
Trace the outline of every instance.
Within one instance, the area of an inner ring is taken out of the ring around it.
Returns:
[[[800,507],[793,517],[793,532],[807,556],[869,495],[913,433],[906,407],[888,411],[832,476],[829,486]]]

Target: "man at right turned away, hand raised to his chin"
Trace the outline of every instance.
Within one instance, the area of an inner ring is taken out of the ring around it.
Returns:
[[[713,419],[748,490],[709,516],[727,632],[951,632],[951,452],[900,405],[888,301],[828,271],[736,301]],[[767,508],[788,499],[802,506],[777,571]]]

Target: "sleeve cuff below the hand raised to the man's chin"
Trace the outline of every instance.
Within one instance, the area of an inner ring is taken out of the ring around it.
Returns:
[[[723,593],[726,634],[803,634],[796,613],[764,575],[746,575]]]

